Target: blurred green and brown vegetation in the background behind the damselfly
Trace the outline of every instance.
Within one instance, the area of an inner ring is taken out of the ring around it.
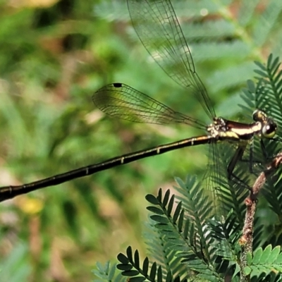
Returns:
[[[254,76],[254,60],[279,55],[282,4],[215,2],[172,1],[217,114],[248,116],[240,114],[240,89]],[[104,116],[91,97],[110,82],[210,122],[142,47],[125,0],[0,5],[1,186],[202,134]],[[91,281],[95,262],[129,244],[145,252],[145,195],[172,188],[175,176],[200,176],[206,153],[182,149],[1,203],[0,281]]]

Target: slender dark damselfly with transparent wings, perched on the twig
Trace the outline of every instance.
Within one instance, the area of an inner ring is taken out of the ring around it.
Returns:
[[[163,154],[183,147],[221,141],[238,143],[238,149],[227,168],[228,176],[231,176],[236,162],[241,159],[247,144],[252,143],[255,136],[269,139],[274,137],[277,128],[276,123],[263,111],[256,110],[253,114],[254,122],[250,124],[216,117],[207,90],[195,71],[190,49],[169,0],[128,0],[128,10],[140,41],[154,61],[168,76],[195,95],[206,114],[211,118],[212,123],[205,125],[190,116],[173,111],[168,106],[123,83],[112,83],[95,92],[92,97],[94,104],[104,113],[116,118],[157,124],[185,123],[203,129],[206,133],[201,136],[124,154],[98,164],[78,168],[32,183],[1,187],[0,201],[39,188],[58,185],[74,178],[89,176],[98,171],[128,164],[137,159]]]

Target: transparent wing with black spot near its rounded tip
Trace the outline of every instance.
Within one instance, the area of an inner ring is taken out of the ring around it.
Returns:
[[[105,114],[139,123],[186,123],[206,128],[204,123],[161,104],[146,94],[122,84],[111,83],[94,93],[94,104]]]

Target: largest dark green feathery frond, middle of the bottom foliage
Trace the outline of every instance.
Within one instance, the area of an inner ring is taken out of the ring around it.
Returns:
[[[207,245],[210,238],[205,231],[204,209],[195,208],[195,212],[189,213],[190,218],[186,219],[187,211],[182,208],[182,202],[178,202],[173,209],[175,197],[170,197],[169,190],[163,199],[162,190],[159,190],[157,197],[147,195],[146,198],[151,204],[157,205],[147,207],[154,212],[151,219],[157,222],[155,226],[165,235],[167,247],[177,250],[176,257],[183,258],[188,273],[200,268],[203,276],[216,275],[214,266],[206,263],[213,256],[213,250],[209,250]]]

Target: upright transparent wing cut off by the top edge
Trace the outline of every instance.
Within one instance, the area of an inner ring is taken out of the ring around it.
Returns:
[[[190,49],[169,0],[128,0],[133,27],[159,66],[179,85],[190,88],[204,111],[215,116],[211,101],[195,71]]]

